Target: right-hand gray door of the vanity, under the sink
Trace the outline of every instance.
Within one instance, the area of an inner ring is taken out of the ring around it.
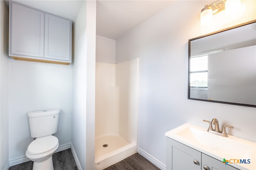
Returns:
[[[238,170],[202,153],[202,170]]]

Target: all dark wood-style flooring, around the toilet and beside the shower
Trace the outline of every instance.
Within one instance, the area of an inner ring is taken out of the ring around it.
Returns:
[[[78,170],[71,149],[63,150],[52,155],[54,170]],[[33,162],[28,161],[14,165],[9,170],[32,170]],[[136,153],[105,170],[160,170],[146,158]]]

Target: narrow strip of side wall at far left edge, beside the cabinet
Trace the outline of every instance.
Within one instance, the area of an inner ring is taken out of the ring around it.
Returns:
[[[8,130],[8,9],[0,1],[0,169],[9,167],[9,130]]]

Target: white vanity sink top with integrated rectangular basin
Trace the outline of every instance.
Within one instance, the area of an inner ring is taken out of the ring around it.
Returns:
[[[207,132],[207,128],[186,123],[165,135],[213,158],[223,161],[230,159],[250,159],[250,164],[232,164],[239,169],[256,169],[256,142],[228,135],[219,136]]]

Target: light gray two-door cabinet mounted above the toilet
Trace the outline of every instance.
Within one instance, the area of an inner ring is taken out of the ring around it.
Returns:
[[[71,20],[12,1],[9,8],[9,56],[25,61],[71,63]]]

